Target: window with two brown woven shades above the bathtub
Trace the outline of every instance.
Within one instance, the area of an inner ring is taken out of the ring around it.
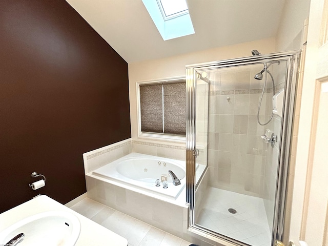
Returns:
[[[185,141],[186,80],[139,83],[139,135]]]

